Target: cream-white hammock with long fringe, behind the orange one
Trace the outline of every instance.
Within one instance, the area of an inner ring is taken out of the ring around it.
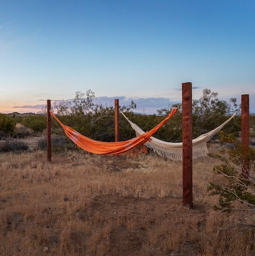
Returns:
[[[200,156],[206,156],[208,152],[208,148],[206,143],[213,137],[220,129],[222,129],[228,122],[231,121],[235,117],[238,111],[236,111],[232,117],[227,119],[222,125],[216,127],[215,129],[209,131],[206,134],[202,134],[199,137],[192,139],[192,158],[199,158]],[[131,127],[134,129],[135,134],[137,136],[145,133],[138,125],[131,122],[125,114],[121,111],[123,117],[130,123]],[[151,137],[150,141],[146,142],[145,145],[151,148],[155,153],[164,156],[165,158],[169,158],[174,161],[182,161],[182,142],[165,142],[157,139],[155,137]]]

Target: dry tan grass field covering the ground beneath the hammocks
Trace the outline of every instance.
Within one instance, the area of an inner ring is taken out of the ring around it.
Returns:
[[[254,229],[238,226],[244,213],[211,209],[215,159],[194,161],[190,210],[182,207],[180,162],[154,154],[45,158],[0,154],[0,255],[255,254]]]

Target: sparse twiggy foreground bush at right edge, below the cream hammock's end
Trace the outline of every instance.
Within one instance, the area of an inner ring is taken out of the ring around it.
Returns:
[[[236,203],[255,210],[255,148],[250,147],[249,153],[245,153],[242,144],[234,142],[233,136],[221,135],[222,140],[232,147],[225,147],[214,158],[222,161],[213,168],[214,172],[222,175],[222,183],[209,182],[208,190],[210,195],[218,195],[217,210],[231,210],[236,208]],[[249,167],[247,166],[249,163]],[[240,208],[240,206],[238,206]]]

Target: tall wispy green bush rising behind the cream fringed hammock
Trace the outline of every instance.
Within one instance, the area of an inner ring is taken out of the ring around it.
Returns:
[[[170,109],[158,110],[158,115],[166,116],[174,106],[177,106],[177,104],[173,104]],[[192,101],[193,138],[221,125],[236,110],[236,98],[231,98],[230,102],[226,102],[219,100],[218,93],[211,92],[210,89],[203,89],[203,94],[199,100]],[[240,117],[236,117],[231,121],[231,125],[226,125],[223,130],[227,133],[235,133],[237,135],[240,128],[241,119]],[[178,142],[182,141],[181,110],[179,113],[175,114],[173,120],[169,120],[166,125],[159,130],[155,137],[163,139],[164,141],[173,141],[173,139]],[[218,137],[218,135],[216,134],[215,137]]]

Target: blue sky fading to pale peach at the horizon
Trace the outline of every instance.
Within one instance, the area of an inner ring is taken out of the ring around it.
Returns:
[[[164,108],[162,98],[181,101],[186,81],[197,87],[194,98],[203,88],[225,100],[250,94],[255,112],[255,1],[0,5],[0,112],[37,111],[41,100],[88,89],[155,98]]]

